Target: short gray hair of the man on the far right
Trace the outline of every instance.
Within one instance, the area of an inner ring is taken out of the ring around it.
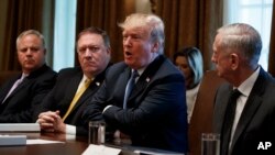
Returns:
[[[257,64],[262,51],[262,38],[253,26],[234,23],[222,26],[217,32],[222,35],[220,43],[222,48],[235,48],[242,52],[248,63]]]

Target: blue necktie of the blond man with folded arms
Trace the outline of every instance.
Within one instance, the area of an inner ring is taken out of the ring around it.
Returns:
[[[125,93],[124,93],[124,100],[123,100],[123,109],[127,109],[127,101],[129,98],[129,95],[132,92],[133,87],[135,85],[135,78],[139,77],[138,70],[133,70],[130,79],[128,80]]]

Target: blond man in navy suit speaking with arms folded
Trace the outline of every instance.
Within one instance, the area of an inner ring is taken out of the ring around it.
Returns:
[[[163,55],[164,24],[153,14],[131,14],[123,30],[124,62],[110,67],[84,119],[101,120],[133,145],[176,152],[187,150],[185,80]],[[139,76],[132,87],[132,75]]]

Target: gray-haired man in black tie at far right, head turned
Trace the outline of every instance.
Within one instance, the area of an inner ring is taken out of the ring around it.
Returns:
[[[257,64],[261,49],[258,32],[248,24],[222,26],[216,35],[212,62],[228,81],[215,101],[213,131],[221,134],[221,155],[275,154],[275,81]],[[228,102],[232,90],[239,96]],[[273,145],[263,147],[266,142]]]

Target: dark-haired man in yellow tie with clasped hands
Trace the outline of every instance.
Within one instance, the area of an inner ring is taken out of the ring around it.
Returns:
[[[38,115],[37,122],[44,131],[73,135],[88,133],[81,114],[85,102],[94,96],[105,79],[111,58],[109,36],[98,27],[81,31],[77,41],[77,54],[80,67],[65,68],[58,73],[55,87],[34,114],[35,119]],[[86,80],[92,81],[79,95]]]

